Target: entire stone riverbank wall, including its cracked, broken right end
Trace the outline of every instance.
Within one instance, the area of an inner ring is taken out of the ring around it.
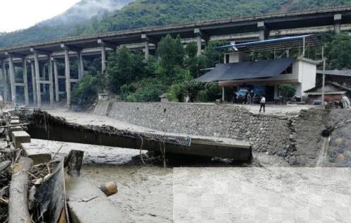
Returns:
[[[323,144],[321,132],[344,119],[350,110],[302,110],[296,116],[252,114],[244,107],[216,104],[99,102],[94,114],[165,132],[249,141],[254,152],[284,157],[291,165],[316,167],[323,146],[323,166],[351,167],[347,125]],[[350,126],[348,127],[350,128]]]

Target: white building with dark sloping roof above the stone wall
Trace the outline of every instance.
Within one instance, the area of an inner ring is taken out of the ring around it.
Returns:
[[[254,90],[256,95],[265,95],[267,102],[279,99],[279,85],[296,85],[295,96],[303,100],[307,99],[304,91],[316,85],[316,61],[304,57],[242,61],[244,59],[242,52],[232,52],[226,59],[231,63],[220,64],[197,80],[218,82],[223,90]]]

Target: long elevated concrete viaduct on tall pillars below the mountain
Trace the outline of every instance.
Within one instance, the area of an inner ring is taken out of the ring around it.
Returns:
[[[118,49],[121,45],[134,45],[143,48],[145,59],[151,49],[157,49],[157,42],[170,34],[179,35],[183,40],[196,40],[198,55],[202,54],[203,44],[209,40],[223,36],[238,35],[236,41],[265,40],[272,33],[278,35],[299,35],[301,33],[324,32],[330,29],[338,33],[350,29],[351,6],[323,8],[313,11],[297,11],[290,13],[270,13],[258,16],[243,16],[219,20],[205,20],[196,23],[165,25],[161,27],[142,28],[85,37],[68,37],[61,40],[25,44],[0,49],[0,71],[3,73],[4,100],[17,101],[16,87],[23,87],[25,104],[28,99],[27,63],[30,63],[33,102],[37,107],[42,106],[42,93],[49,85],[50,105],[59,100],[60,94],[65,94],[67,107],[71,106],[71,83],[76,83],[83,77],[83,58],[85,56],[99,56],[102,63],[102,72],[106,71],[107,50]],[[313,28],[313,29],[311,29]],[[58,73],[58,59],[64,58],[65,73]],[[70,60],[78,63],[78,78],[71,78]],[[16,66],[23,68],[23,83],[17,83]],[[42,71],[40,71],[40,67]],[[46,75],[46,70],[48,77]],[[52,71],[54,70],[54,71]],[[41,74],[40,74],[41,73]],[[53,77],[54,74],[54,77]],[[66,80],[66,90],[60,92],[58,81]],[[9,97],[11,95],[11,97]]]

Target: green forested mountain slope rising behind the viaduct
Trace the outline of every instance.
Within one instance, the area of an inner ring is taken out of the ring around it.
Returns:
[[[136,0],[120,10],[94,16],[83,24],[36,25],[0,35],[0,47],[73,35],[347,4],[351,4],[351,0]]]

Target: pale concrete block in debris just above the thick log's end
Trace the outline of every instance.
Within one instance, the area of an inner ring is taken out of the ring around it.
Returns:
[[[37,145],[32,143],[22,143],[22,148],[25,156],[30,157],[35,165],[50,162],[52,159],[51,151],[46,148],[37,148]]]

